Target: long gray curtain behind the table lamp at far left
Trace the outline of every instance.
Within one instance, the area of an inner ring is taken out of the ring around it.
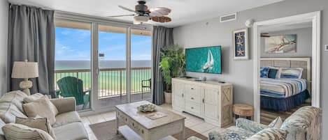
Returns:
[[[30,79],[31,93],[55,95],[54,11],[10,4],[8,25],[8,72],[14,61],[38,62],[38,78]],[[19,90],[22,79],[8,78],[10,91]]]

